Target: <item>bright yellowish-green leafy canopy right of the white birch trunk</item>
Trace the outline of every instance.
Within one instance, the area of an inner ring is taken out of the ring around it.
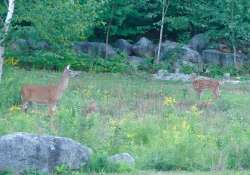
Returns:
[[[34,27],[37,35],[54,47],[68,46],[86,39],[99,25],[98,17],[105,1],[17,1],[14,32]],[[29,36],[32,37],[32,36]]]

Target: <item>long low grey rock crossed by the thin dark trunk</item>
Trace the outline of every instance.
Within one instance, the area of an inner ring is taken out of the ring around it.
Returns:
[[[78,42],[75,43],[73,49],[76,53],[85,53],[92,57],[102,57],[106,56],[106,44],[99,42]],[[115,50],[108,45],[107,47],[107,57],[111,58],[116,55]]]

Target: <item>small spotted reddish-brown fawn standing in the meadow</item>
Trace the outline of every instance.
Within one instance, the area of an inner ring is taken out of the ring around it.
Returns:
[[[214,98],[218,98],[220,96],[220,83],[217,80],[211,79],[196,79],[196,76],[192,76],[192,84],[193,88],[196,91],[198,97],[200,98],[202,91],[205,89],[211,90]]]

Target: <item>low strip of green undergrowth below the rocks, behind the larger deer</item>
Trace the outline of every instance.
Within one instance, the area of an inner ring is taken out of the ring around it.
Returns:
[[[34,69],[62,70],[70,64],[74,69],[91,72],[129,72],[132,67],[127,63],[127,57],[117,55],[112,59],[92,58],[88,55],[77,55],[71,50],[60,53],[50,51],[35,51],[32,54],[12,52],[5,53],[6,64]]]

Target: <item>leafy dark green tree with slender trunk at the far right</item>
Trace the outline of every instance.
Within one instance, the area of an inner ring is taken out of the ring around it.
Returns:
[[[249,0],[219,0],[210,5],[209,33],[216,40],[226,40],[238,68],[237,50],[240,43],[250,41]]]

